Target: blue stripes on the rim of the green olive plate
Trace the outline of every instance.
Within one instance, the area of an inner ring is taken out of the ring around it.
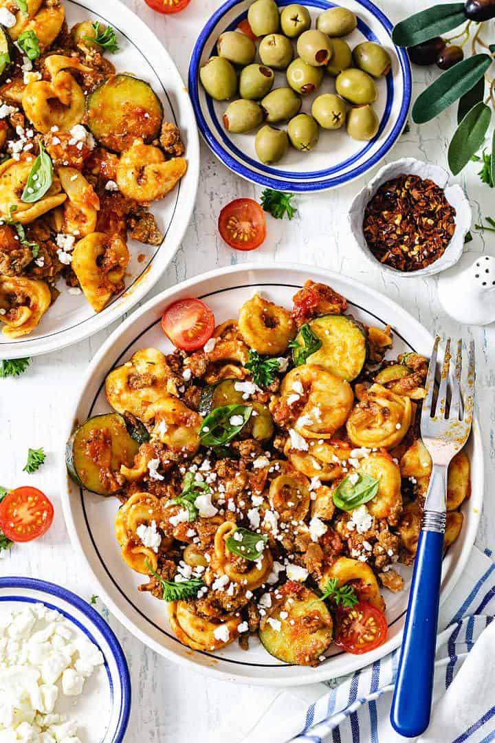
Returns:
[[[229,167],[233,172],[236,172],[238,175],[241,175],[243,178],[246,178],[248,181],[252,181],[255,183],[258,183],[262,186],[269,186],[269,188],[275,188],[280,190],[286,190],[286,191],[297,191],[297,192],[307,192],[307,191],[319,191],[322,189],[332,188],[333,186],[341,186],[347,181],[352,181],[354,178],[357,178],[358,175],[362,175],[364,172],[366,172],[368,169],[370,169],[373,165],[375,165],[381,158],[384,157],[384,155],[387,154],[387,152],[390,150],[390,148],[393,146],[393,144],[396,142],[397,138],[400,136],[402,130],[404,129],[404,126],[407,121],[407,114],[409,112],[410,107],[410,99],[412,94],[412,76],[411,76],[411,69],[410,69],[410,62],[409,58],[407,56],[407,51],[400,47],[395,47],[396,53],[399,59],[399,64],[401,67],[401,73],[403,77],[404,82],[404,96],[401,102],[401,108],[399,111],[399,117],[397,118],[396,124],[393,127],[392,132],[390,132],[389,136],[387,137],[387,140],[381,145],[380,149],[377,150],[377,152],[369,159],[366,160],[364,163],[361,163],[360,166],[357,168],[348,171],[347,173],[344,173],[340,176],[335,176],[334,178],[328,178],[327,180],[318,180],[318,181],[311,181],[311,182],[303,182],[303,183],[297,183],[294,180],[292,181],[283,181],[279,178],[270,178],[269,176],[263,175],[263,173],[259,172],[253,172],[252,169],[249,169],[246,166],[243,166],[242,163],[239,163],[238,160],[232,157],[232,155],[229,155],[229,152],[226,152],[226,149],[222,146],[220,142],[217,141],[217,139],[214,137],[214,134],[209,129],[208,124],[206,123],[205,117],[203,115],[203,111],[201,109],[200,100],[199,100],[199,91],[198,91],[198,69],[200,65],[200,59],[201,55],[203,54],[203,49],[206,45],[206,42],[209,39],[209,36],[212,33],[212,30],[217,25],[217,22],[219,22],[222,17],[225,15],[225,13],[230,10],[233,6],[235,6],[238,3],[239,0],[227,0],[209,19],[209,21],[206,23],[205,27],[203,27],[203,30],[201,31],[200,35],[197,38],[197,42],[194,45],[194,49],[191,53],[191,60],[189,62],[189,75],[188,75],[188,82],[189,82],[189,95],[191,96],[191,103],[194,108],[194,114],[196,116],[197,125],[200,129],[200,132],[203,136],[203,138],[206,140],[206,143],[208,143],[209,147],[212,149],[212,152],[214,152],[215,155],[217,155],[217,158],[223,162],[224,165]],[[280,5],[286,5],[290,4],[292,0],[281,0],[278,2]],[[356,0],[359,4],[361,4],[363,7],[365,7],[367,10],[370,11],[370,13],[373,14],[373,16],[378,19],[378,21],[381,23],[381,25],[384,27],[384,29],[387,31],[389,36],[392,36],[392,30],[393,25],[390,23],[389,19],[387,19],[387,16],[384,15],[384,13],[379,10],[376,5],[371,2],[371,0]],[[313,7],[334,7],[334,3],[326,0],[309,0],[309,4],[311,4]],[[242,18],[245,16],[246,13],[242,13],[239,18]],[[361,28],[362,30],[362,28]],[[389,82],[387,82],[387,106],[391,106],[390,102],[390,88],[389,88]],[[211,115],[212,111],[212,103],[208,102],[209,106],[209,112]],[[385,110],[385,113],[387,114],[387,108]],[[390,111],[388,112],[390,114]],[[217,117],[214,116],[214,120],[217,120]],[[383,119],[382,119],[383,120]],[[380,132],[382,131],[383,127],[381,126]],[[219,131],[221,131],[219,129]],[[379,133],[376,135],[379,136]],[[225,135],[222,132],[223,140],[225,141]],[[234,146],[232,146],[232,142],[230,140],[227,140],[229,142],[229,147],[235,151]],[[371,143],[370,143],[371,144]],[[370,144],[368,146],[370,146]],[[363,152],[366,152],[367,147],[365,147],[363,150],[361,150],[360,155],[363,154]],[[245,155],[243,155],[243,158],[246,158]],[[250,158],[246,158],[246,160],[252,162],[255,164],[255,166],[259,168],[263,168],[266,172],[281,172],[281,171],[274,171],[273,169],[266,168],[266,166],[263,166],[262,163],[256,163],[254,160],[250,160]],[[352,161],[352,158],[351,158]],[[343,163],[341,163],[341,167]],[[322,171],[324,174],[327,173],[327,171]],[[319,172],[316,173],[318,175]],[[304,174],[303,177],[310,177],[311,174]],[[301,178],[301,175],[298,173],[291,173],[291,178]]]

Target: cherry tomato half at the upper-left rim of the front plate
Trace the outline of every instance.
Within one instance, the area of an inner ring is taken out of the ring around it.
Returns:
[[[165,309],[162,328],[177,348],[195,351],[212,337],[214,314],[200,299],[177,299]]]

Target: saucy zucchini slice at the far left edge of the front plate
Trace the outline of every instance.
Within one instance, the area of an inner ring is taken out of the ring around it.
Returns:
[[[95,415],[79,426],[65,447],[65,464],[73,481],[91,493],[114,496],[122,488],[120,466],[132,467],[140,444],[119,413]]]

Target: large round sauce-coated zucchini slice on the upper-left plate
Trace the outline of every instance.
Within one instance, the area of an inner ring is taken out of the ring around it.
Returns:
[[[151,142],[160,134],[163,106],[148,82],[122,74],[88,95],[88,126],[96,140],[114,152],[129,149],[137,137]]]

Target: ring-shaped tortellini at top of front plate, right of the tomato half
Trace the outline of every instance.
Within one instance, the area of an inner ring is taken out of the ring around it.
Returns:
[[[258,294],[240,308],[239,330],[250,348],[270,356],[283,354],[296,333],[290,312]]]

